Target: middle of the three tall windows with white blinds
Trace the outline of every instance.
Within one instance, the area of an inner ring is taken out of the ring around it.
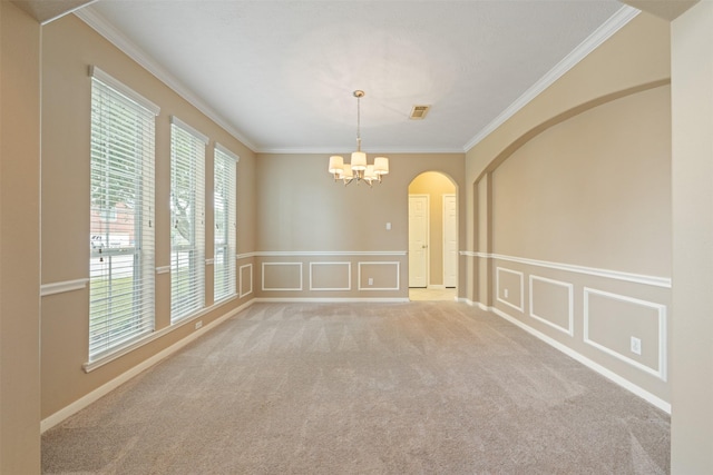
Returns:
[[[205,306],[205,146],[207,137],[173,117],[170,126],[170,321]]]

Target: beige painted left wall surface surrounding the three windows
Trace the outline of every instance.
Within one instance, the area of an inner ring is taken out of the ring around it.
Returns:
[[[89,248],[89,66],[96,65],[158,105],[156,119],[156,266],[169,265],[170,116],[209,137],[206,149],[206,257],[213,251],[211,226],[213,145],[240,156],[238,266],[255,250],[254,154],[74,16],[42,30],[42,285],[88,277]],[[250,270],[250,267],[248,267]],[[206,307],[213,304],[213,267],[206,266]],[[247,277],[247,275],[246,275]],[[212,308],[204,326],[248,301],[252,295]],[[170,274],[156,275],[156,329],[170,328]],[[90,373],[88,288],[42,297],[42,417],[47,418],[195,331],[191,318],[162,337]]]

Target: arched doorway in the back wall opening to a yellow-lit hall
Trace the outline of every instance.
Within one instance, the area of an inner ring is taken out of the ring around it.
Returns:
[[[410,298],[455,298],[458,285],[458,198],[456,186],[441,172],[423,172],[409,185],[408,249]]]

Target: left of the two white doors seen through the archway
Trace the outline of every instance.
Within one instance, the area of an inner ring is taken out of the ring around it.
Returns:
[[[428,195],[409,195],[409,287],[428,286]]]

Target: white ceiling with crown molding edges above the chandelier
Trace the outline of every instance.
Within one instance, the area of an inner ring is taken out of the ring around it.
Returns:
[[[616,0],[100,0],[79,16],[253,150],[329,154],[354,148],[355,89],[365,151],[463,151],[635,12]],[[413,105],[432,108],[414,121]]]

